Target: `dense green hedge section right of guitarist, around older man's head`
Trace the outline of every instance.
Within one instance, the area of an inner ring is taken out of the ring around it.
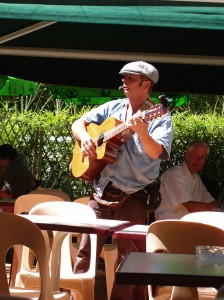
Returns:
[[[224,118],[217,114],[174,113],[174,139],[170,160],[161,165],[161,174],[183,160],[186,145],[195,139],[206,141],[210,153],[201,176],[219,190],[224,188]],[[218,191],[217,191],[218,193]]]

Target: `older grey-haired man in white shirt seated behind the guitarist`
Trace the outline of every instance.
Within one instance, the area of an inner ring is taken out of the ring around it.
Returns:
[[[155,219],[180,219],[184,215],[213,210],[219,206],[203,184],[198,172],[209,154],[208,145],[192,141],[187,145],[184,161],[171,167],[161,176],[160,194],[162,201],[155,211]]]

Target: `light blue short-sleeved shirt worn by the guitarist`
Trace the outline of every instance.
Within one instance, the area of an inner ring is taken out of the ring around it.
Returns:
[[[125,122],[128,99],[118,99],[107,102],[83,116],[88,123],[102,124],[108,117]],[[170,112],[164,116],[148,121],[149,135],[163,145],[164,151],[160,158],[152,159],[144,151],[142,144],[135,133],[128,141],[121,145],[118,157],[114,164],[107,164],[94,180],[94,189],[102,196],[105,186],[112,181],[119,189],[127,194],[141,190],[152,183],[159,175],[160,163],[167,160],[171,151],[173,139],[173,125]]]

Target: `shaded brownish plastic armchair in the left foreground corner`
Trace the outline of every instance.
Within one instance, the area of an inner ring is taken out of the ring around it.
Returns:
[[[53,291],[47,260],[46,240],[41,230],[35,224],[12,213],[1,213],[0,244],[1,295],[40,300],[69,300],[67,293]],[[35,253],[40,267],[40,290],[9,287],[5,269],[5,256],[7,250],[14,245],[24,245]]]

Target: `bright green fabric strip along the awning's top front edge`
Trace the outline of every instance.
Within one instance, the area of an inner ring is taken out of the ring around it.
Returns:
[[[224,7],[43,5],[0,3],[0,18],[56,22],[224,29]]]

